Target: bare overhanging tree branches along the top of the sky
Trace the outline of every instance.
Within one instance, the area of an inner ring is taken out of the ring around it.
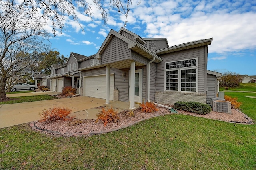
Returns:
[[[132,5],[133,1],[134,0],[1,0],[0,3],[8,2],[21,10],[29,11],[32,15],[40,15],[45,22],[50,20],[55,35],[56,30],[62,31],[66,16],[69,16],[72,20],[79,23],[79,13],[92,19],[95,12],[93,9],[95,8],[101,12],[104,24],[106,24],[108,20],[108,9],[115,9],[118,14],[126,17],[124,20],[124,25],[126,25],[130,5]],[[137,3],[140,4],[140,0]],[[81,25],[80,27],[82,28]]]

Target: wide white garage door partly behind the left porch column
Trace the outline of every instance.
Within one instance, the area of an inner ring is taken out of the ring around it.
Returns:
[[[106,75],[84,77],[84,96],[106,99]],[[113,100],[114,75],[110,75],[110,96]]]

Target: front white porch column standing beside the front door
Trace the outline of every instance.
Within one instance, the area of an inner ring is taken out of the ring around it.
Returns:
[[[131,62],[131,76],[130,76],[130,107],[129,107],[129,109],[135,109],[134,89],[135,89],[135,61],[132,61]]]

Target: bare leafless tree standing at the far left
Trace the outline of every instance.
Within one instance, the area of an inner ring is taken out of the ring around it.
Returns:
[[[21,74],[47,51],[42,16],[12,3],[0,3],[0,100],[6,99],[8,79]]]

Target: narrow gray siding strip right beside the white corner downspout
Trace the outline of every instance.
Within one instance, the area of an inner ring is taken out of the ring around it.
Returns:
[[[156,91],[156,63],[150,64],[150,101],[155,101],[155,91]]]

